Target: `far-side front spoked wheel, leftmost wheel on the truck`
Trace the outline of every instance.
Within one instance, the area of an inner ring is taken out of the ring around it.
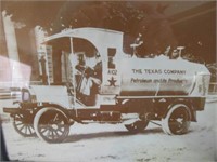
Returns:
[[[22,113],[16,113],[14,116],[13,126],[16,130],[16,132],[24,137],[36,136],[36,132],[33,126],[33,121],[29,119],[29,117],[26,118]]]

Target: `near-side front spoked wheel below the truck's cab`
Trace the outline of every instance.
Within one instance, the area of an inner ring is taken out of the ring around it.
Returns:
[[[62,143],[69,133],[68,119],[56,108],[43,108],[34,119],[34,127],[39,138],[47,143]]]

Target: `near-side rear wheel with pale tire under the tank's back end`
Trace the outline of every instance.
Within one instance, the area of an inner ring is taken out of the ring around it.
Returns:
[[[189,131],[191,123],[191,112],[188,106],[177,104],[162,119],[162,129],[169,135],[181,135]]]

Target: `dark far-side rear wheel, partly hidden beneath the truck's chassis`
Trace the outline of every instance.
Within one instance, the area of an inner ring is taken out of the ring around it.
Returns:
[[[149,121],[141,121],[138,120],[131,124],[125,125],[125,127],[130,132],[130,133],[139,133],[142,132],[149,124]]]

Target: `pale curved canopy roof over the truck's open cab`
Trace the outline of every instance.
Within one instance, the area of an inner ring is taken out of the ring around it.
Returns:
[[[44,42],[64,37],[88,40],[95,46],[102,57],[106,57],[107,49],[116,49],[116,52],[123,54],[123,32],[120,31],[92,27],[69,28],[47,37]]]

